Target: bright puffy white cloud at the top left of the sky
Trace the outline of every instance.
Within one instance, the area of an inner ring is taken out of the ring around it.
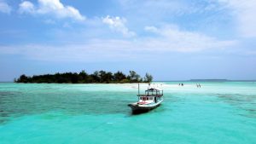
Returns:
[[[29,1],[20,3],[20,12],[28,14],[53,14],[59,19],[72,18],[73,20],[85,20],[78,9],[65,6],[60,0],[38,0],[38,7]]]

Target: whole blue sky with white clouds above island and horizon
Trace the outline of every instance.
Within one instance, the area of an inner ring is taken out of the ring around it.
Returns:
[[[55,72],[256,79],[256,0],[0,0],[0,81]]]

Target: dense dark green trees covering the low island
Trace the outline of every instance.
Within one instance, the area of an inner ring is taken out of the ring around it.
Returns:
[[[137,72],[130,71],[129,75],[125,75],[123,72],[105,72],[96,71],[92,74],[82,72],[65,72],[45,75],[34,75],[27,77],[25,74],[20,78],[15,79],[15,83],[58,83],[58,84],[90,84],[90,83],[149,83],[153,80],[153,77],[146,73],[144,78],[141,78]]]

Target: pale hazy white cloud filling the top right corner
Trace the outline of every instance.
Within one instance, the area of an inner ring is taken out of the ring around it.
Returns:
[[[243,37],[256,37],[256,0],[218,0],[236,16]]]

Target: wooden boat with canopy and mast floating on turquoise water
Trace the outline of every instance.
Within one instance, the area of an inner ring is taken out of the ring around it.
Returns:
[[[139,91],[139,86],[138,86]],[[138,92],[139,93],[139,92]],[[131,103],[128,106],[131,107],[132,112],[148,112],[149,110],[159,107],[160,103],[164,101],[163,99],[163,90],[148,86],[148,89],[145,90],[145,94],[138,94],[138,101]]]

